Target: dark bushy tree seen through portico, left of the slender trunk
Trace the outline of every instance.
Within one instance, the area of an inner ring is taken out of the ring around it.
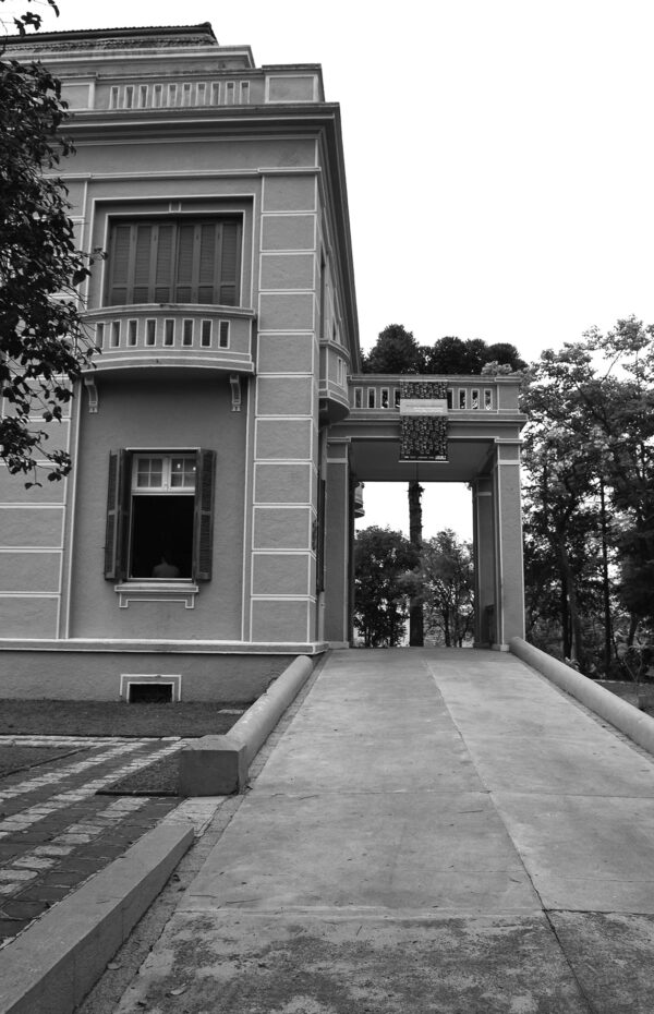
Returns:
[[[417,565],[401,532],[371,526],[354,542],[354,623],[366,648],[393,648],[408,616],[407,574]]]

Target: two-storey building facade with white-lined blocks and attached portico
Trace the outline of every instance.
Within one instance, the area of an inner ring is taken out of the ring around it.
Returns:
[[[63,83],[77,242],[106,257],[81,293],[95,366],[51,433],[71,475],[0,468],[0,696],[247,700],[350,642],[356,483],[414,478],[393,378],[358,377],[339,108],[319,67],[257,68],[208,24],[8,56]],[[477,642],[506,647],[522,417],[514,379],[473,390],[422,406],[453,457],[421,468],[473,483]]]

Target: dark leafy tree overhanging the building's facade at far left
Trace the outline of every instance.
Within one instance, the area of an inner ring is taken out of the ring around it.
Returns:
[[[40,17],[15,24],[25,34]],[[68,191],[52,174],[73,152],[58,133],[66,116],[61,85],[40,63],[0,59],[0,458],[34,482],[39,460],[51,480],[71,469],[66,451],[48,449],[48,426],[94,351],[76,291],[93,258],[76,249]]]

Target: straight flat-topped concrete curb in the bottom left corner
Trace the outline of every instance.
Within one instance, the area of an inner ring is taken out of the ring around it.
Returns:
[[[0,951],[0,1014],[71,1014],[194,840],[162,821]]]

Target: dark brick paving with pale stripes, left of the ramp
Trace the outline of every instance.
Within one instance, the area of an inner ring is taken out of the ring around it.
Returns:
[[[12,745],[43,748],[47,756],[62,747],[66,755],[0,780],[0,947],[171,811],[185,811],[197,824],[217,805],[96,795],[180,750],[177,737],[0,736],[0,747]]]

